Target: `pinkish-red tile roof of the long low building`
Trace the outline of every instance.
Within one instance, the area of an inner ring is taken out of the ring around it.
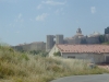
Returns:
[[[109,52],[108,45],[57,45],[61,52]]]

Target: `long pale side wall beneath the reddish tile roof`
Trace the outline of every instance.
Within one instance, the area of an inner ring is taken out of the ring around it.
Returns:
[[[99,63],[105,61],[105,55],[101,54],[62,54],[63,58],[68,56],[75,56],[75,59],[90,60],[92,62]]]

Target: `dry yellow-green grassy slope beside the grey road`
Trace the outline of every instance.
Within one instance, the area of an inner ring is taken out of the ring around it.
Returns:
[[[83,60],[44,58],[0,46],[0,82],[49,82],[60,77],[107,72],[86,65]]]

